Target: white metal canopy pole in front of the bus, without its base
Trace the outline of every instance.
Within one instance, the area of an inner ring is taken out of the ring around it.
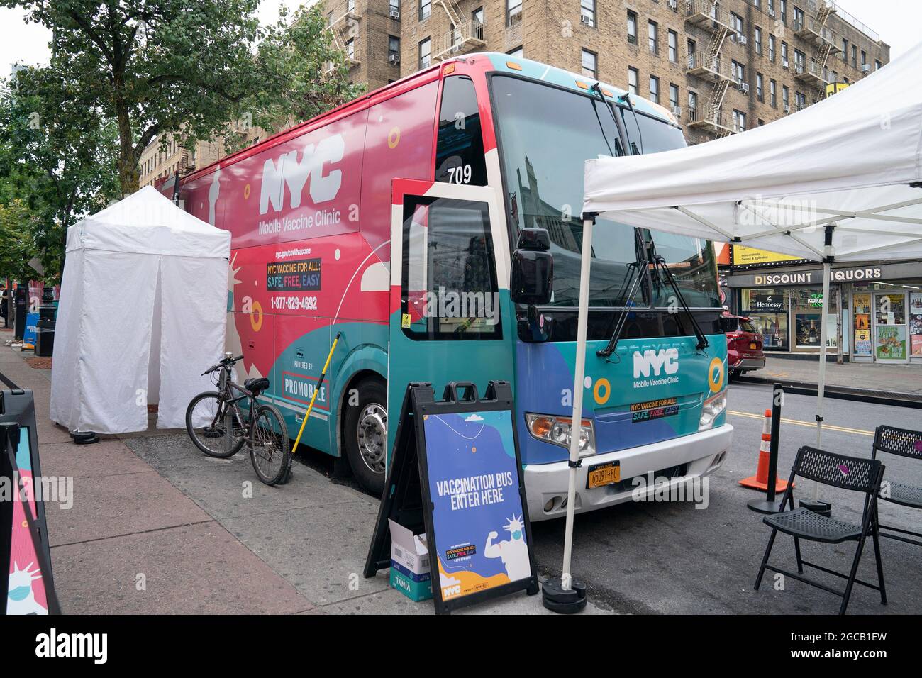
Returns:
[[[592,227],[595,219],[583,220],[583,257],[579,274],[579,315],[576,323],[576,360],[573,365],[573,419],[570,428],[570,484],[567,489],[567,521],[563,532],[561,588],[571,589],[570,558],[573,555],[573,511],[576,508],[576,462],[579,461],[580,426],[583,422],[585,379],[585,329],[589,322],[589,267],[592,263]]]

